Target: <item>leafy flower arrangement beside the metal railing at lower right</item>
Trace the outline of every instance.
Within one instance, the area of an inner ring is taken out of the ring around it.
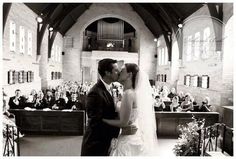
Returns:
[[[205,119],[198,120],[194,116],[193,121],[187,125],[179,125],[180,135],[173,148],[176,156],[198,156],[199,133],[205,125]]]

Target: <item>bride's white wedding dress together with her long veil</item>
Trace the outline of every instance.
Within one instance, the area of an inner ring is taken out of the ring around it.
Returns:
[[[111,142],[111,156],[157,156],[156,119],[152,90],[146,73],[139,71],[135,81],[135,104],[132,106],[129,123],[138,130],[134,135],[121,135]],[[130,93],[124,92],[126,99]],[[122,98],[121,106],[125,106]],[[122,129],[121,129],[122,130]]]

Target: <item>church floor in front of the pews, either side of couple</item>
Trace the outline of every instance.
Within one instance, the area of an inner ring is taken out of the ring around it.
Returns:
[[[177,139],[158,139],[159,156],[173,157]],[[82,136],[24,136],[20,139],[21,156],[80,156]]]

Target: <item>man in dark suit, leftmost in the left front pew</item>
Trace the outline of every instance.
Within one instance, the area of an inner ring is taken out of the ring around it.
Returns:
[[[17,89],[15,91],[15,96],[9,99],[10,109],[24,109],[25,108],[25,97],[21,96],[21,91]]]

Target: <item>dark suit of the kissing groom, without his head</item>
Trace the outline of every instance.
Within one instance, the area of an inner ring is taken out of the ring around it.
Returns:
[[[117,137],[120,128],[102,121],[116,119],[114,101],[102,81],[98,81],[88,93],[86,99],[88,125],[83,137],[81,156],[107,156],[111,139]]]

